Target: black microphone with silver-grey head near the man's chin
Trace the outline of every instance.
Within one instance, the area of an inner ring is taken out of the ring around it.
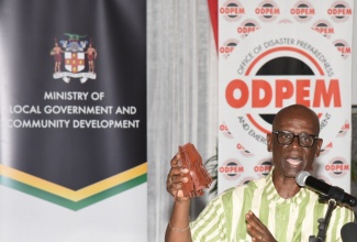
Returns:
[[[348,205],[350,207],[357,206],[357,198],[346,194],[344,189],[328,184],[313,177],[310,173],[302,170],[295,177],[297,184],[301,187],[308,186],[324,196],[335,199],[337,202]]]

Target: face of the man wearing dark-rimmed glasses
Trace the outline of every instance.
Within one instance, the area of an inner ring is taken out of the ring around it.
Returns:
[[[313,127],[310,113],[286,112],[275,122],[274,130],[288,131],[294,135],[301,133],[317,135],[317,128]],[[272,152],[272,163],[278,175],[294,178],[301,170],[312,169],[315,156],[319,156],[322,140],[315,140],[312,147],[302,147],[298,138],[289,145],[280,144],[277,135],[268,134],[268,151]]]

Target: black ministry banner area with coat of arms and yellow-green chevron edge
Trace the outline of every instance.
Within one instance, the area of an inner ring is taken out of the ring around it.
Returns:
[[[146,1],[0,0],[1,184],[72,210],[146,182]]]

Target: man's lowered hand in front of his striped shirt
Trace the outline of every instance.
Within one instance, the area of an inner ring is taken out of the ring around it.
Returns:
[[[253,213],[248,211],[245,216],[247,222],[247,231],[252,237],[252,241],[276,242],[277,240],[271,235],[270,231],[263,222]]]

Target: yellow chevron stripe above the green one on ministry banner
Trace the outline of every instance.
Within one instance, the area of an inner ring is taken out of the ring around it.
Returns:
[[[45,190],[47,193],[57,195],[59,197],[79,201],[92,195],[99,194],[103,190],[107,190],[111,187],[118,186],[131,179],[134,179],[141,175],[147,173],[147,163],[143,163],[136,167],[127,169],[118,175],[111,176],[107,179],[100,180],[93,185],[85,187],[79,190],[71,190],[66,187],[59,186],[57,184],[51,183],[48,180],[42,179],[40,177],[30,175],[27,173],[23,173],[21,170],[11,168],[9,166],[4,166],[0,164],[0,175],[7,176],[9,178],[15,179],[20,183],[26,184],[29,186]]]

